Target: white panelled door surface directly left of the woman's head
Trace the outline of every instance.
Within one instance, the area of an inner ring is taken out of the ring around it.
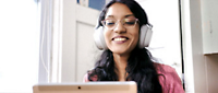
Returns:
[[[76,5],[76,80],[82,81],[95,65],[98,49],[94,43],[94,28],[99,11]]]

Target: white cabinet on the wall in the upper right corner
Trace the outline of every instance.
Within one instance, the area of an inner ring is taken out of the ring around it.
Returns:
[[[218,0],[202,0],[204,54],[218,54]]]

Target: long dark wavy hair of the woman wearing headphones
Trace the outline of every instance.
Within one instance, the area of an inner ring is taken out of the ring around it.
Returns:
[[[111,0],[105,9],[101,11],[98,19],[98,26],[102,26],[101,22],[105,20],[105,15],[110,5],[116,2],[123,3],[129,7],[134,16],[140,20],[140,27],[143,24],[148,24],[147,15],[143,8],[134,0]],[[118,74],[116,73],[117,67],[111,50],[105,50],[101,54],[100,59],[95,63],[95,68],[88,71],[88,80],[96,81],[118,81]],[[135,47],[131,51],[131,56],[128,60],[125,68],[128,73],[126,81],[135,81],[137,83],[137,93],[162,93],[161,85],[158,80],[158,73],[155,65],[152,60],[152,55],[146,48]]]

